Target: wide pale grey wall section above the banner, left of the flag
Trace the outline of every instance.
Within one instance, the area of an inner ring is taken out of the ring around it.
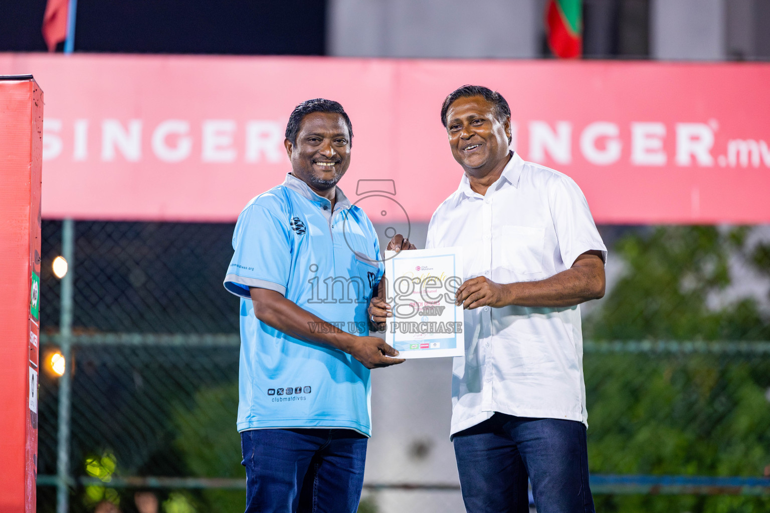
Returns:
[[[540,0],[330,0],[329,55],[536,58]]]

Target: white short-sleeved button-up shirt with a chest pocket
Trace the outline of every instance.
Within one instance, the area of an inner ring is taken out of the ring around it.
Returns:
[[[427,248],[462,246],[464,279],[535,281],[591,250],[607,257],[580,188],[517,154],[482,196],[466,175],[430,219]],[[495,411],[588,425],[580,307],[465,311],[465,356],[454,358],[451,435]]]

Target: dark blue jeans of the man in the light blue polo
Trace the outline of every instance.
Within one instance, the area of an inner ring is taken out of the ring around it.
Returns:
[[[241,433],[246,513],[356,513],[367,437],[351,429]]]

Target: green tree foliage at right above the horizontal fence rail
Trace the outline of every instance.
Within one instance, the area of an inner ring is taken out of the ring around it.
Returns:
[[[708,304],[730,285],[728,260],[743,255],[747,233],[748,228],[665,226],[621,238],[610,258],[622,259],[624,275],[588,319],[585,338],[770,340],[770,323],[754,299],[719,309]],[[747,259],[764,262],[758,270],[770,272],[770,247],[760,246]]]

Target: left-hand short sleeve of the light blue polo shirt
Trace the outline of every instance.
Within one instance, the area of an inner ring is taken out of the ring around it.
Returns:
[[[249,287],[268,288],[286,295],[291,264],[289,227],[261,205],[249,205],[238,216],[233,233],[233,258],[225,288],[250,298]]]

